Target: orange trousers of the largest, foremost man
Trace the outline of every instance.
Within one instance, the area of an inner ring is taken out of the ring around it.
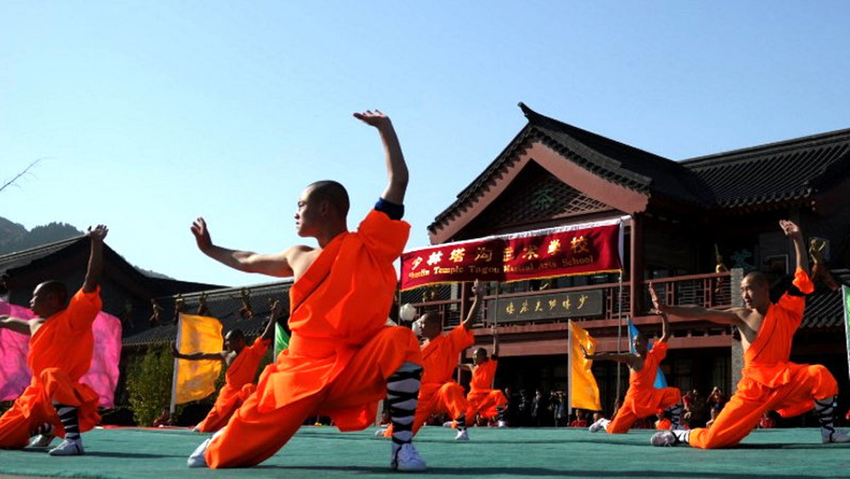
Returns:
[[[223,432],[204,454],[212,468],[247,467],[269,459],[292,437],[304,419],[317,413],[331,416],[371,405],[371,418],[363,417],[360,429],[374,424],[377,402],[386,396],[387,379],[405,361],[418,357],[419,344],[409,329],[383,328],[358,351],[336,380],[314,396],[291,402],[268,413],[259,413],[258,394],[252,394],[230,418]],[[334,419],[335,424],[338,424]]]

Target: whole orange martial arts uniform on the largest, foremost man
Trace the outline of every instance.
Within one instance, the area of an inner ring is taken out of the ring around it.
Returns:
[[[387,379],[405,362],[422,362],[411,330],[386,326],[397,282],[393,261],[409,231],[404,221],[372,210],[292,284],[289,349],[213,437],[204,453],[209,467],[257,465],[316,414],[330,416],[340,431],[374,424]]]

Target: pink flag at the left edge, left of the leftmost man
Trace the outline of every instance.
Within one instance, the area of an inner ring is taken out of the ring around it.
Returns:
[[[32,319],[32,311],[11,305],[0,299],[0,316]],[[26,352],[30,337],[9,329],[0,329],[0,401],[11,401],[30,385],[30,368],[26,367]]]

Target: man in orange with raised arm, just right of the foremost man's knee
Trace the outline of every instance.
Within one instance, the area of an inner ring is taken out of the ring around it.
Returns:
[[[465,416],[467,398],[463,394],[463,386],[451,379],[451,373],[457,366],[458,356],[475,343],[469,329],[478,317],[482,290],[476,280],[473,283],[473,305],[466,319],[450,333],[443,333],[443,318],[434,312],[423,314],[414,323],[414,332],[418,330],[417,334],[425,339],[422,343],[422,387],[413,419],[414,435],[432,414],[449,413],[456,423],[455,440],[469,440]],[[384,436],[392,436],[392,432],[390,426],[384,431]]]

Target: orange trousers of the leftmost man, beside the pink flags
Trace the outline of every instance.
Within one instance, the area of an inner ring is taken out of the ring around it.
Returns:
[[[64,437],[65,429],[59,422],[54,401],[79,408],[80,431],[89,431],[100,420],[98,399],[97,393],[88,385],[71,380],[65,371],[44,369],[15,399],[12,408],[0,417],[0,448],[26,447],[32,431],[44,423],[54,425],[54,434]]]

